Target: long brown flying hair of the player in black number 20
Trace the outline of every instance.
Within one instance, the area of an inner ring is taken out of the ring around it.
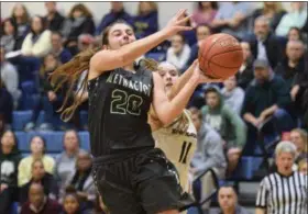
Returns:
[[[119,20],[117,22],[113,22],[109,26],[107,26],[105,29],[105,31],[102,32],[102,38],[101,38],[102,45],[109,44],[109,41],[108,41],[109,31],[113,25],[119,24],[119,23],[128,24],[127,22]],[[89,70],[90,59],[92,58],[92,56],[96,53],[98,53],[101,49],[102,49],[101,45],[99,45],[96,48],[86,49],[85,52],[77,54],[68,63],[59,66],[56,70],[54,70],[51,74],[50,80],[51,80],[52,86],[54,87],[54,91],[59,90],[64,83],[66,83],[66,86],[68,86],[66,95],[64,98],[64,102],[63,102],[61,109],[58,110],[58,112],[62,112],[61,119],[63,121],[65,121],[65,122],[69,121],[73,117],[76,109],[81,104],[81,102],[82,102],[81,98],[88,88],[88,71],[87,71],[85,79],[81,82],[81,87],[76,91],[76,94],[79,93],[81,95],[78,98],[76,95],[73,95],[73,104],[70,104],[70,105],[68,104],[69,98],[74,93],[74,89],[75,89],[81,74],[85,70]]]

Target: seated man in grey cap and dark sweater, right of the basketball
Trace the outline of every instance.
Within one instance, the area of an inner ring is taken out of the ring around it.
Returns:
[[[290,95],[284,79],[276,76],[264,59],[256,59],[253,67],[254,80],[245,91],[242,109],[249,124],[250,143],[255,140],[257,129],[266,120],[275,124],[279,134],[294,127],[294,121],[285,110],[290,104]],[[248,151],[253,151],[252,145],[248,147]]]

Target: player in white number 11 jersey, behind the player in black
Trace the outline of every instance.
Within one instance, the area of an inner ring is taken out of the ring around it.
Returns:
[[[197,61],[179,78],[179,72],[174,65],[166,61],[158,65],[157,72],[163,79],[168,99],[172,100],[176,95],[178,89],[186,83],[189,79],[187,77],[193,74],[196,66]],[[184,191],[190,192],[189,164],[197,145],[197,131],[189,111],[184,110],[180,116],[164,127],[157,122],[155,112],[151,111],[148,120],[156,147],[160,147],[175,165]]]

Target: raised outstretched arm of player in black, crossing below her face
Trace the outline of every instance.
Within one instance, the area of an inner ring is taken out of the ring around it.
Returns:
[[[91,58],[91,68],[100,74],[127,66],[176,33],[193,30],[190,26],[185,26],[187,20],[190,19],[190,16],[185,16],[185,13],[186,10],[179,10],[168,24],[157,33],[124,45],[119,49],[98,52]]]

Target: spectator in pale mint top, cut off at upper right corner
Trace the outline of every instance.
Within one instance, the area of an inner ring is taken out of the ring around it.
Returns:
[[[277,29],[276,35],[287,36],[288,31],[292,26],[301,29],[307,21],[307,3],[306,2],[290,2],[292,11],[286,13]]]

